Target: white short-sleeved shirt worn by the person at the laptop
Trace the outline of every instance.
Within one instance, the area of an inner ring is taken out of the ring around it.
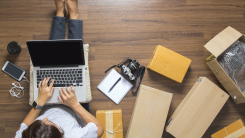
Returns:
[[[82,128],[77,120],[63,109],[51,108],[36,120],[43,120],[45,117],[63,129],[65,138],[97,138],[98,128],[94,123],[88,123]],[[27,127],[25,123],[21,123],[20,130],[16,132],[15,138],[21,138],[22,132]]]

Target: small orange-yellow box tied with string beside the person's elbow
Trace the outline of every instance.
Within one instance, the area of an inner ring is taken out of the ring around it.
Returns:
[[[123,138],[122,110],[97,110],[96,118],[104,127],[101,138]]]

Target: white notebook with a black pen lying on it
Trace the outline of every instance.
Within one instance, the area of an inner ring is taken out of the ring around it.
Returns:
[[[103,92],[116,104],[121,102],[132,87],[133,85],[114,69],[112,69],[97,86],[101,92]]]

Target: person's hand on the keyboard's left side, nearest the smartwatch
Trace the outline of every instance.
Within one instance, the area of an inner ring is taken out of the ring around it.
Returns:
[[[52,97],[54,92],[54,79],[52,79],[50,85],[48,86],[48,81],[50,78],[44,78],[43,81],[40,81],[38,84],[39,92],[37,103],[39,106],[44,106]]]

